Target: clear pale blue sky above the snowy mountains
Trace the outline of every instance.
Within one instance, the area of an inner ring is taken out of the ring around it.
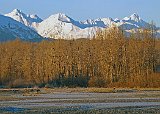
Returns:
[[[76,20],[98,17],[123,18],[133,13],[160,26],[160,0],[0,0],[0,13],[20,9],[42,19],[65,13]]]

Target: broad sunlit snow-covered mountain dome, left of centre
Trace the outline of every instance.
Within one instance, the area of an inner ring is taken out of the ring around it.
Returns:
[[[88,38],[95,35],[97,29],[61,13],[50,16],[36,28],[39,34],[49,38]]]

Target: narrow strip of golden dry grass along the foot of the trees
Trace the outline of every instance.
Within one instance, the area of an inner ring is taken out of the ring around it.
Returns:
[[[74,92],[86,92],[86,93],[119,93],[119,92],[136,92],[136,91],[160,91],[160,88],[41,88],[38,89],[0,89],[0,93],[21,93],[24,96],[37,96],[39,94],[46,93],[74,93]]]

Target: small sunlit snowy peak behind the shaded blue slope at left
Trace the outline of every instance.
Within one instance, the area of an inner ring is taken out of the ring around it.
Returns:
[[[11,17],[14,20],[21,22],[22,24],[31,28],[37,27],[38,23],[43,21],[37,15],[26,15],[19,9],[14,9],[11,13],[5,14],[5,16]]]

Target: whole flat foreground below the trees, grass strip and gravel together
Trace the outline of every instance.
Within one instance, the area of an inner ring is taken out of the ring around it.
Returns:
[[[158,88],[0,89],[0,113],[157,114],[160,113],[160,90]]]

